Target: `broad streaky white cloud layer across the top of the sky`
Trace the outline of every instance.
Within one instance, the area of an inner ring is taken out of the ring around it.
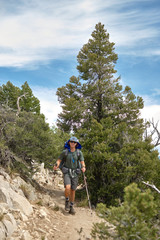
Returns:
[[[137,0],[138,3],[147,1]],[[70,51],[64,55],[73,54],[75,49],[88,41],[99,21],[105,24],[111,41],[118,47],[147,44],[147,41],[159,36],[158,28],[152,25],[159,22],[159,11],[141,8],[122,11],[124,6],[127,9],[135,2],[21,0],[17,5],[12,5],[10,1],[2,1],[0,49],[3,49],[3,53],[0,54],[0,66],[22,67],[49,61],[62,57],[61,50],[64,54],[66,49]],[[120,51],[132,54],[124,49]],[[152,54],[159,54],[159,51],[157,46]]]

